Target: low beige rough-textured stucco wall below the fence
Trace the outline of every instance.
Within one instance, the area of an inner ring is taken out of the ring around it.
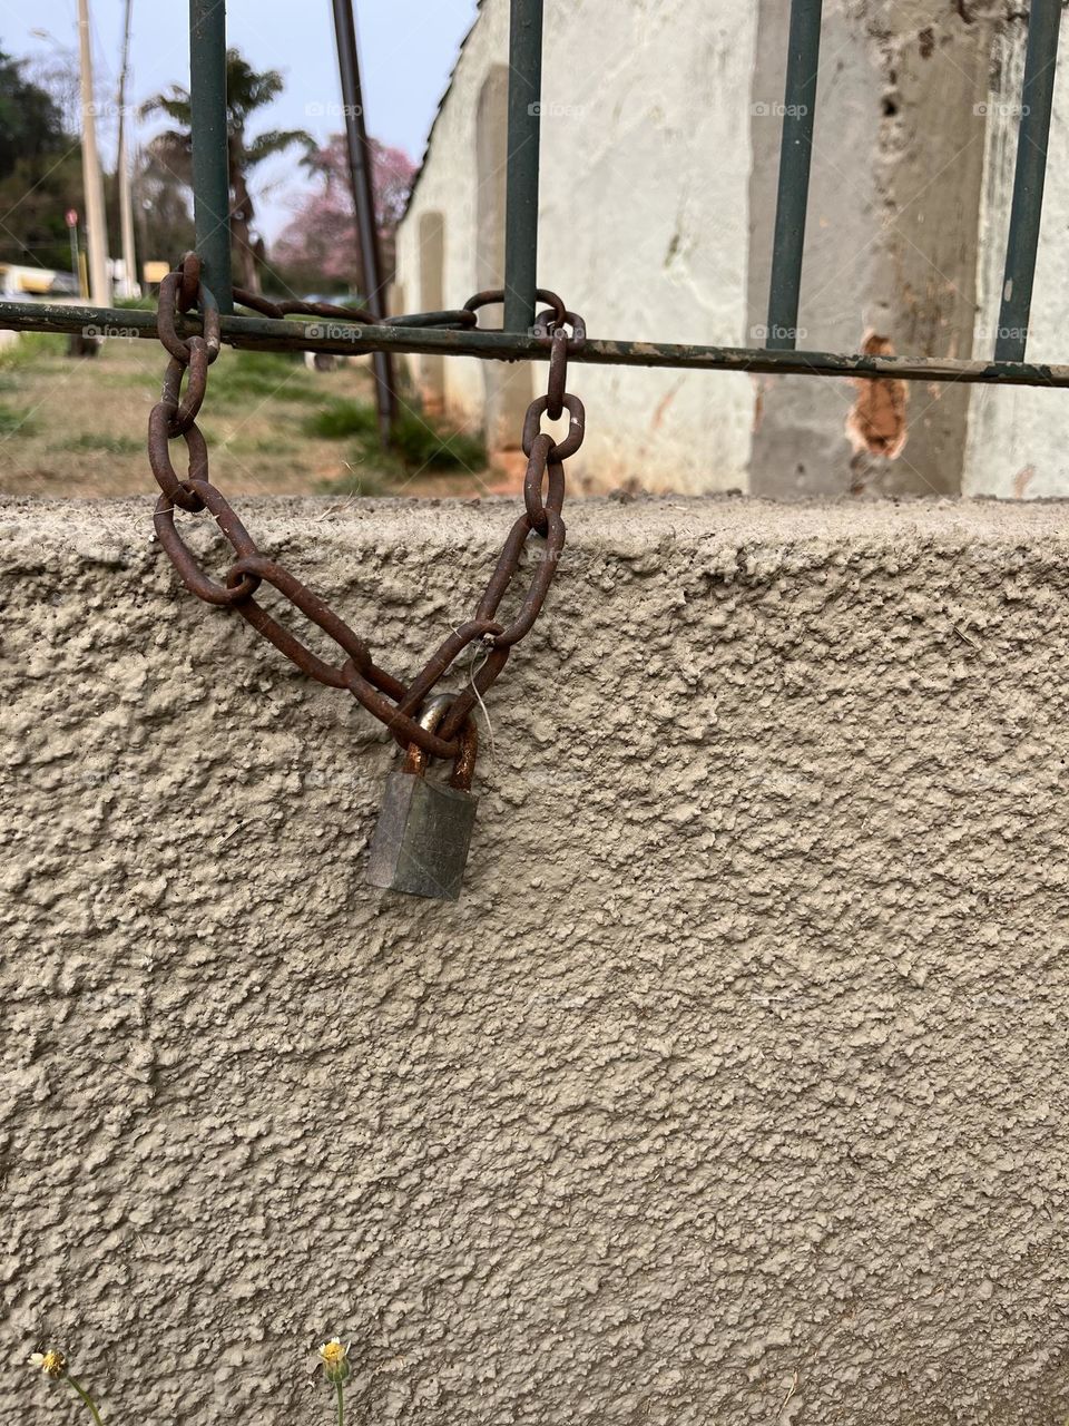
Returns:
[[[336,1330],[359,1420],[1062,1426],[1069,511],[573,503],[450,906],[148,509],[0,511],[4,1419]],[[242,515],[412,667],[513,508]]]

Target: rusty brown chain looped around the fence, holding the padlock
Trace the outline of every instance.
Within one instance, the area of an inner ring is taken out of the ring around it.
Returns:
[[[210,605],[235,609],[242,619],[264,635],[304,673],[329,687],[348,689],[379,719],[402,747],[416,746],[433,757],[456,759],[465,744],[466,727],[477,700],[495,683],[507,663],[512,649],[530,632],[549,593],[564,546],[563,462],[583,443],[583,402],[567,389],[567,358],[586,339],[583,319],[569,312],[554,292],[539,289],[539,301],[547,304],[534,324],[534,335],[550,348],[549,389],[527,408],[523,422],[523,453],[527,472],[523,481],[523,513],[516,519],[502,548],[497,565],[479,600],[473,616],[459,625],[432,653],[420,672],[402,683],[376,666],[371,649],[318,595],[306,589],[277,560],[257,546],[222,492],[208,476],[208,446],[197,425],[197,416],[208,386],[208,368],[220,355],[220,314],[212,294],[201,281],[201,265],[188,252],[178,268],[160,284],[157,328],[170,361],[164,374],[160,401],[148,416],[148,463],[161,489],[154,525],[164,550],[170,556],[187,589]],[[420,312],[409,317],[386,318],[386,325],[465,328],[477,325],[479,308],[502,302],[500,289],[477,292],[465,307],[452,312]],[[267,298],[234,289],[234,301],[265,317],[289,315],[325,317],[349,322],[373,322],[365,308],[335,307],[329,302],[271,302]],[[202,335],[182,337],[178,318],[198,308]],[[570,334],[569,334],[570,328]],[[185,392],[182,394],[182,386]],[[542,429],[542,418],[557,421],[569,414],[569,432],[563,441]],[[185,445],[185,475],[180,475],[171,461],[171,442]],[[204,572],[197,556],[185,543],[175,525],[175,506],[190,513],[208,511],[231,545],[235,559],[220,583]],[[519,613],[509,623],[497,620],[497,609],[509,590],[532,535],[544,540],[544,553],[532,578]],[[316,625],[345,655],[339,665],[328,663],[281,625],[257,602],[262,583],[271,585],[306,619]],[[466,647],[480,643],[485,657],[468,687],[453,699],[438,730],[418,722],[420,706],[430,690],[453,667]]]

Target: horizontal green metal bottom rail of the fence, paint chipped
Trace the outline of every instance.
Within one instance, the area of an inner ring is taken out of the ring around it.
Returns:
[[[446,329],[440,327],[352,327],[331,322],[329,337],[309,337],[295,321],[269,317],[224,317],[222,339],[258,351],[314,351],[351,356],[361,351],[428,352],[479,356],[483,361],[549,361],[544,341],[529,332]],[[322,329],[324,324],[316,324]],[[0,328],[13,331],[84,332],[104,338],[157,335],[155,312],[138,308],[74,307],[66,302],[0,302]],[[180,318],[182,335],[201,331],[192,315]],[[747,347],[703,347],[677,342],[607,341],[589,337],[569,356],[596,366],[673,366],[683,371],[743,371],[808,376],[894,376],[901,381],[1003,382],[1013,386],[1069,386],[1069,366],[1032,362],[954,361],[941,356],[864,356],[842,352],[768,351]]]

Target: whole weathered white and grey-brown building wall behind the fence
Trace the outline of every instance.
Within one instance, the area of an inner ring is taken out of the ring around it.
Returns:
[[[486,251],[472,168],[482,87],[507,60],[506,11],[485,0],[435,128],[402,225],[409,294],[428,210],[448,214],[453,299],[472,289],[473,252]],[[601,337],[761,345],[788,6],[550,0],[546,16],[543,279]],[[899,354],[992,349],[1023,40],[1025,16],[1009,0],[936,10],[828,0],[800,345],[858,351],[875,335]],[[1066,355],[1058,264],[1069,188],[1058,155],[1068,94],[1059,81],[1031,342],[1053,361]],[[530,376],[456,365],[448,406],[486,419],[495,448],[515,445]],[[848,435],[859,395],[848,381],[584,369],[573,384],[590,414],[580,488],[713,481],[778,498],[1069,489],[1059,392],[911,384],[907,441],[887,459]]]

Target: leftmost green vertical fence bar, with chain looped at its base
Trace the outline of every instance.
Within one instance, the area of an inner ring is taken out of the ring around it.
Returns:
[[[227,0],[190,0],[192,214],[204,281],[231,312]]]

